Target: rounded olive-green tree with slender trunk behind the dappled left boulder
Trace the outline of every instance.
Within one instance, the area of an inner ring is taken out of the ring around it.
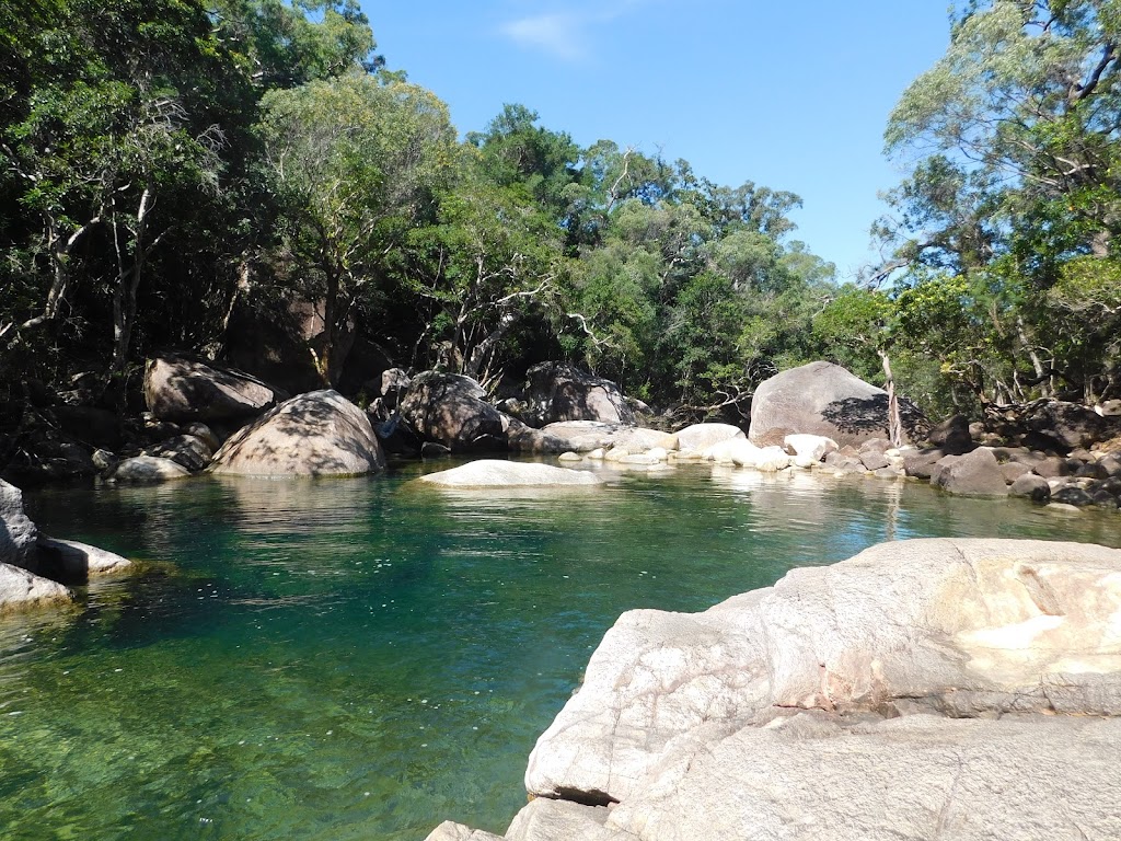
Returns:
[[[455,132],[430,91],[360,71],[271,91],[262,112],[291,268],[323,302],[316,367],[333,383],[348,324],[382,292],[395,249],[435,213]]]

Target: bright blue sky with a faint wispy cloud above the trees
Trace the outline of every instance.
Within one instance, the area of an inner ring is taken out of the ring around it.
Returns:
[[[802,196],[795,239],[841,279],[873,259],[877,193],[900,178],[887,118],[948,43],[946,0],[362,0],[392,70],[461,133],[503,103],[735,186]]]

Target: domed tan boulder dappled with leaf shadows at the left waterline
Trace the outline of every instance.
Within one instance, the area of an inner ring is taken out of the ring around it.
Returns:
[[[214,473],[296,477],[356,475],[386,459],[358,406],[337,391],[293,397],[233,435],[214,455]]]

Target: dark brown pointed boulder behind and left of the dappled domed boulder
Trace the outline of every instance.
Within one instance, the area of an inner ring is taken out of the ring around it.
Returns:
[[[242,371],[186,357],[149,359],[145,403],[161,420],[245,420],[286,397]]]

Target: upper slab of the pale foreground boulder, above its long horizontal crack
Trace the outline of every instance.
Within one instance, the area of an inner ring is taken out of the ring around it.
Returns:
[[[526,785],[626,801],[675,745],[775,706],[1118,715],[1118,616],[1121,551],[965,539],[882,544],[701,614],[631,611]]]

